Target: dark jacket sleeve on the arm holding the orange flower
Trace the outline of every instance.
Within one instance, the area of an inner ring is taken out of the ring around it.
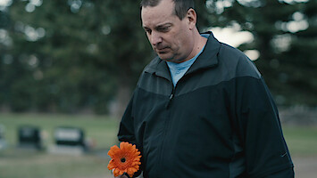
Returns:
[[[128,107],[125,110],[123,117],[121,118],[118,139],[120,142],[129,142],[129,143],[135,144],[138,150],[140,150],[140,145],[138,145],[138,142],[136,140],[136,136],[134,133],[133,99],[134,99],[134,94],[131,100],[129,101]],[[141,151],[141,154],[142,154],[142,151]],[[141,164],[142,164],[142,158],[141,158]],[[133,177],[138,177],[138,175],[141,173],[142,173],[142,165],[140,166],[138,172],[133,175]],[[129,177],[128,174],[126,175]]]

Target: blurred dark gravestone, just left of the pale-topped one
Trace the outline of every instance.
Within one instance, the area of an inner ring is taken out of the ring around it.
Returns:
[[[41,131],[38,126],[21,125],[18,129],[18,142],[18,147],[21,149],[43,149]]]

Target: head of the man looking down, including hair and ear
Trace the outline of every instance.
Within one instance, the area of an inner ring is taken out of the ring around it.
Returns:
[[[154,52],[164,61],[182,62],[196,50],[196,12],[192,0],[143,0],[141,19]]]

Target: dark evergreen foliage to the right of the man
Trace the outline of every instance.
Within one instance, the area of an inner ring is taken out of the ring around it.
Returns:
[[[259,51],[255,64],[279,104],[316,105],[316,1],[214,0],[207,6],[213,26],[238,24],[253,34],[254,42],[238,48]]]

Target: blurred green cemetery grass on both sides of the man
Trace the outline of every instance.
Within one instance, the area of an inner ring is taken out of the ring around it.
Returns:
[[[0,150],[0,178],[111,177],[106,168],[109,161],[106,152],[117,142],[118,120],[104,116],[0,113],[0,125],[6,128],[5,138],[9,143],[7,150]],[[46,147],[54,144],[55,127],[77,126],[96,142],[96,148],[82,156],[18,150],[17,130],[20,125],[37,125],[45,131]],[[317,126],[283,125],[283,131],[292,157],[299,161],[303,161],[302,158],[317,158]],[[312,159],[312,162],[316,161]],[[315,167],[311,169],[314,171]],[[304,177],[310,178],[310,175],[301,175],[301,178]]]

